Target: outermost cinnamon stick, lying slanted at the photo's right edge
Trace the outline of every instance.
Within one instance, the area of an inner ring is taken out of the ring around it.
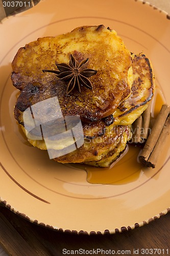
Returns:
[[[169,106],[164,104],[155,120],[154,126],[151,130],[143,150],[139,156],[139,161],[145,166],[155,168],[156,162],[161,151],[161,146],[169,134],[170,130],[170,116]]]

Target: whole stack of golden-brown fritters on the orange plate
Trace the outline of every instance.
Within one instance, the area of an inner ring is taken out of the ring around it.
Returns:
[[[74,72],[81,71],[86,76],[80,84],[73,84],[73,80],[68,84],[63,74],[69,72],[59,72],[69,70],[70,65],[72,68],[71,58],[76,67]],[[79,70],[80,63],[85,64]],[[149,59],[130,53],[116,32],[103,25],[79,27],[67,34],[30,42],[18,50],[12,68],[13,85],[20,90],[14,115],[26,134],[29,119],[23,120],[23,113],[50,98],[58,98],[63,117],[81,119],[83,144],[54,158],[61,163],[109,166],[125,150],[131,138],[131,124],[153,96]],[[39,123],[48,120],[48,112],[41,112]],[[56,113],[50,116],[55,119]],[[58,133],[57,126],[53,124],[53,134]],[[43,136],[28,136],[28,140],[42,150],[49,149]],[[61,136],[52,141],[51,149],[61,151],[71,141]]]

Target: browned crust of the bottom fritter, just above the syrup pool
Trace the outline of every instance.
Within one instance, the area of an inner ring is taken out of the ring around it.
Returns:
[[[107,167],[125,150],[130,132],[130,125],[113,126],[104,135],[85,139],[84,144],[76,151],[54,160],[61,163],[86,163]]]

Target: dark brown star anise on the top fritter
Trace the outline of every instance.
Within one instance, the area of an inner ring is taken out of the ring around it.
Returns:
[[[97,73],[96,70],[87,69],[88,58],[83,59],[80,63],[70,54],[69,64],[60,63],[56,66],[58,70],[42,70],[43,72],[52,72],[62,81],[67,81],[66,93],[70,93],[75,87],[81,93],[81,86],[93,89],[90,80],[87,77]]]

